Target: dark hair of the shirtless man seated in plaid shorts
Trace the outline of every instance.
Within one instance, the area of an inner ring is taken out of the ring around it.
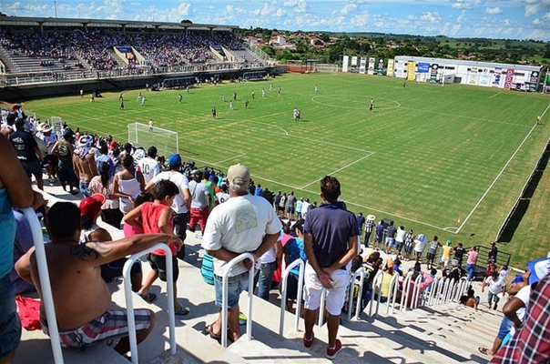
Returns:
[[[73,238],[78,229],[80,229],[80,209],[74,203],[56,202],[49,209],[47,231],[52,239]]]

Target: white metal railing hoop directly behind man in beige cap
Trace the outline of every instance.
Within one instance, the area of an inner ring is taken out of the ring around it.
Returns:
[[[232,258],[226,265],[222,278],[222,294],[221,294],[221,345],[224,348],[228,347],[228,300],[229,288],[228,279],[231,268],[239,264],[244,259],[250,259],[254,262],[254,257],[250,253],[242,253],[239,257]],[[249,307],[247,310],[247,339],[252,339],[252,296],[254,293],[254,268],[249,270]]]

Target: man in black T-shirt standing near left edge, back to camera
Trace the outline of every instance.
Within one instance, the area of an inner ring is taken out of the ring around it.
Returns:
[[[15,147],[17,159],[19,159],[23,169],[25,169],[26,177],[31,180],[34,176],[36,178],[36,187],[43,190],[44,180],[42,179],[41,163],[44,162],[44,158],[38,144],[36,144],[35,136],[25,132],[24,125],[25,120],[18,118],[15,121],[16,130],[9,135],[9,139]]]

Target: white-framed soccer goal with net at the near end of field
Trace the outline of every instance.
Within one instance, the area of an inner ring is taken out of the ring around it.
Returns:
[[[140,123],[128,124],[128,142],[136,147],[155,146],[158,156],[168,157],[179,153],[178,132]]]

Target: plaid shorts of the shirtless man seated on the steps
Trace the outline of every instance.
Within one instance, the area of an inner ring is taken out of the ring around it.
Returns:
[[[134,310],[136,333],[148,329],[151,323],[151,311],[147,308]],[[49,336],[46,319],[40,318],[42,330]],[[114,348],[118,340],[127,336],[128,321],[126,309],[109,309],[106,313],[80,328],[60,331],[59,339],[63,348],[85,349],[93,343],[105,343]]]

